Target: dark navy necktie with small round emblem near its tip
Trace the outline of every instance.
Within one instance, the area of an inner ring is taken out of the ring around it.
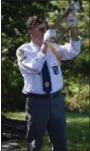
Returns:
[[[48,70],[47,62],[45,61],[43,68],[42,68],[42,81],[43,81],[43,90],[49,94],[52,90],[51,86],[51,77]]]

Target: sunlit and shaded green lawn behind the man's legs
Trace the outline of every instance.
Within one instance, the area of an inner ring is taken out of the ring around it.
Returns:
[[[12,119],[24,120],[24,112],[8,112],[4,113],[7,117]],[[67,122],[67,145],[68,150],[76,151],[88,151],[89,150],[89,116],[80,113],[66,113],[66,122]],[[18,142],[21,148],[21,151],[25,148],[25,141]],[[48,143],[47,133],[43,139],[44,150],[51,149]]]

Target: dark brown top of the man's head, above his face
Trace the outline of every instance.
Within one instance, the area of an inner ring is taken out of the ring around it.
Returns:
[[[42,14],[40,15],[33,15],[33,16],[30,16],[26,22],[26,27],[27,29],[31,29],[32,27],[38,25],[38,24],[41,24],[43,23],[45,20],[44,16]]]

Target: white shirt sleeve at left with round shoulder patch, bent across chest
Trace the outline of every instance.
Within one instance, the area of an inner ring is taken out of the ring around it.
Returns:
[[[45,54],[40,51],[37,54],[34,52],[28,54],[21,48],[17,49],[16,56],[19,68],[27,73],[40,73],[46,59]]]

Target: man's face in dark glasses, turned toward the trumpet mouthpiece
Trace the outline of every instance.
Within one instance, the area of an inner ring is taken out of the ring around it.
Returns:
[[[45,23],[37,24],[32,29],[30,29],[31,39],[42,43],[43,36],[45,32]]]

